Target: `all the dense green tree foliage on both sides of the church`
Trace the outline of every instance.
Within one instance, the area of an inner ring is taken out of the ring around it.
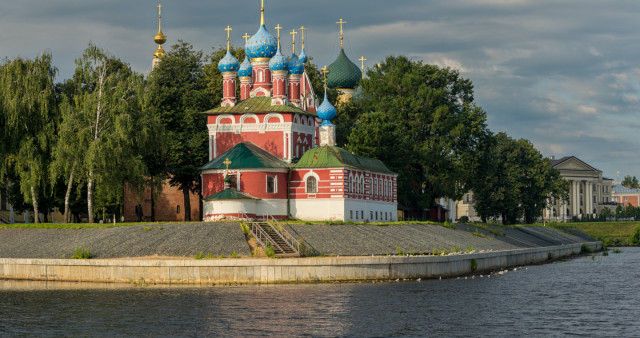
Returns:
[[[189,220],[189,193],[201,191],[208,160],[201,112],[221,101],[225,53],[179,41],[144,78],[90,44],[58,84],[51,55],[4,60],[0,185],[17,209],[62,206],[65,221],[82,209],[93,222],[121,211],[125,182],[140,193],[151,187],[153,203],[169,178],[184,192]],[[231,53],[245,58],[242,48]],[[306,71],[322,100],[322,73],[311,61]],[[336,102],[336,90],[327,95]],[[528,141],[490,132],[473,84],[456,70],[390,56],[368,70],[353,100],[336,105],[338,145],[398,173],[402,208],[473,190],[483,218],[531,222],[551,199],[566,198],[564,181]]]

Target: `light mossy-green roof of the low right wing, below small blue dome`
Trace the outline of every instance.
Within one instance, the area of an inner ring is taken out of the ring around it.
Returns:
[[[294,168],[351,167],[378,173],[393,173],[380,160],[357,156],[335,146],[315,147],[307,150]]]

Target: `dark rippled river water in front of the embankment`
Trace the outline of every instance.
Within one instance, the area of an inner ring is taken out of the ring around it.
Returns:
[[[429,281],[133,287],[0,281],[2,336],[640,337],[640,248]]]

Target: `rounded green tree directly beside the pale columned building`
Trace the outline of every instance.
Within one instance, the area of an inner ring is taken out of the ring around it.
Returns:
[[[533,223],[549,203],[567,200],[569,186],[533,145],[498,133],[483,145],[471,189],[483,221],[502,217],[514,224],[524,217]]]

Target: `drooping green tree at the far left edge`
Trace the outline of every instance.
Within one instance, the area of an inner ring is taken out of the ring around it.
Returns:
[[[39,197],[46,195],[57,105],[51,54],[0,64],[0,178],[13,170],[23,198],[39,222]],[[46,212],[45,212],[46,214]]]

